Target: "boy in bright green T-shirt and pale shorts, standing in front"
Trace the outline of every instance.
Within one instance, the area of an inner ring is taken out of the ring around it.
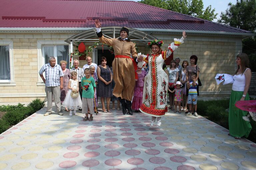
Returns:
[[[90,69],[84,69],[84,75],[81,79],[81,85],[83,88],[82,92],[82,114],[85,114],[84,121],[92,121],[92,114],[94,113],[93,102],[94,102],[94,91],[96,89],[94,78],[90,75]],[[90,111],[90,118],[88,117],[88,107]]]

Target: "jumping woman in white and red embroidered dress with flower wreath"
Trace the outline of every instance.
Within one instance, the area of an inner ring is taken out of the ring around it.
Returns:
[[[186,38],[186,33],[183,31],[181,39],[174,39],[168,46],[168,50],[162,51],[161,40],[155,40],[148,43],[152,50],[152,54],[148,55],[149,71],[144,80],[143,100],[140,111],[146,115],[152,116],[150,126],[154,125],[157,118],[157,127],[161,125],[161,117],[168,111],[167,109],[167,91],[168,91],[168,76],[164,72],[162,66],[164,60],[178,48]]]

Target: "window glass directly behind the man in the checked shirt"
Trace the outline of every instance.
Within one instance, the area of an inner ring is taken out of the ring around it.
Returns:
[[[60,64],[61,60],[67,61],[67,68],[69,68],[69,54],[68,45],[53,45],[43,47],[44,63],[49,62],[49,58],[54,56],[56,58],[56,63]],[[56,57],[57,56],[57,57]]]

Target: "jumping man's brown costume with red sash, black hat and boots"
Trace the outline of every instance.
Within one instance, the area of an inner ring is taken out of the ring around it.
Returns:
[[[126,29],[125,31],[129,34],[127,28],[122,29]],[[102,32],[97,33],[97,36],[99,37],[100,42],[108,44],[114,48],[115,59],[113,60],[112,67],[114,74],[113,79],[116,84],[113,90],[113,95],[126,100],[126,104],[124,103],[124,100],[121,100],[120,102],[122,107],[123,105],[127,105],[126,108],[130,113],[129,105],[131,105],[131,102],[127,101],[132,100],[135,87],[135,71],[137,69],[135,63],[137,58],[135,43],[131,42],[129,39],[123,40],[120,37],[117,39],[105,38]],[[131,55],[133,58],[130,57]]]

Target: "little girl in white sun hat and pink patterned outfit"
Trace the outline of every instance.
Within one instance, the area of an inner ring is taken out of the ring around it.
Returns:
[[[169,92],[173,93],[175,92],[175,96],[174,96],[174,113],[176,113],[177,111],[177,105],[179,105],[179,113],[181,113],[181,101],[183,100],[183,94],[182,94],[182,89],[181,89],[181,82],[177,81],[176,84],[176,88],[174,90],[169,90]]]

